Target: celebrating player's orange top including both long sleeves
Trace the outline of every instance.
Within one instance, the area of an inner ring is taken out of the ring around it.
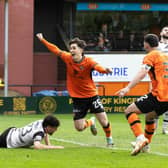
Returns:
[[[42,40],[42,43],[66,63],[67,89],[71,97],[89,98],[97,95],[96,86],[92,80],[92,70],[107,73],[105,68],[101,67],[92,58],[85,56],[80,63],[75,63],[71,53],[60,50],[45,39]]]

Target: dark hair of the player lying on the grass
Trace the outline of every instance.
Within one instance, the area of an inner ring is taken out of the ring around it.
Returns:
[[[59,127],[60,121],[56,117],[54,117],[53,115],[47,115],[44,118],[42,125],[43,125],[43,128],[45,128],[47,126]]]

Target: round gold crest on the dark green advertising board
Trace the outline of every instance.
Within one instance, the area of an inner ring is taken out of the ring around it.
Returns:
[[[56,109],[57,103],[53,97],[43,97],[39,102],[39,110],[42,113],[54,113]]]

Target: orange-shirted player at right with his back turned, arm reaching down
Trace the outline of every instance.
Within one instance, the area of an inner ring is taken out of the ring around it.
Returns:
[[[136,136],[132,155],[143,150],[152,139],[155,130],[155,118],[168,110],[168,55],[158,50],[159,38],[155,34],[144,37],[144,48],[148,54],[143,59],[143,66],[129,84],[119,90],[122,97],[147,74],[149,74],[152,90],[147,95],[137,99],[125,110],[128,123]],[[145,133],[142,130],[138,114],[146,114]]]

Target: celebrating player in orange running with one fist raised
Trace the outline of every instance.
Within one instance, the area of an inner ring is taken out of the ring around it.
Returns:
[[[69,52],[62,51],[56,45],[44,39],[42,33],[37,38],[55,55],[59,56],[67,67],[67,88],[73,100],[74,126],[76,130],[83,131],[90,127],[93,135],[97,134],[95,118],[86,120],[88,110],[94,113],[103,127],[107,145],[113,145],[111,124],[108,121],[104,107],[97,95],[96,86],[92,80],[91,72],[111,73],[110,68],[104,68],[90,57],[84,55],[85,41],[74,38],[69,42]]]

